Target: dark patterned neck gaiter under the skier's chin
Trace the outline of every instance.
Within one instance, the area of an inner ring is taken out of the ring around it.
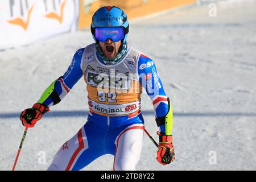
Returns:
[[[119,48],[119,52],[118,52],[117,56],[114,57],[114,59],[108,59],[108,58],[106,58],[104,53],[101,51],[100,45],[98,43],[96,43],[97,57],[102,63],[107,64],[107,65],[113,65],[113,64],[118,63],[126,55],[126,52],[127,52],[127,42],[122,44],[122,48]]]

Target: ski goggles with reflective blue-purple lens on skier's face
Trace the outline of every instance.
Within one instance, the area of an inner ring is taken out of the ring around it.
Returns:
[[[118,42],[125,37],[125,30],[123,27],[100,27],[95,28],[94,35],[100,42],[105,42],[107,39]]]

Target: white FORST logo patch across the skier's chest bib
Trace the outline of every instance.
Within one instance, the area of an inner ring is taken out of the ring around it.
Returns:
[[[130,90],[131,79],[125,74],[107,74],[87,69],[85,72],[86,83],[102,88]]]

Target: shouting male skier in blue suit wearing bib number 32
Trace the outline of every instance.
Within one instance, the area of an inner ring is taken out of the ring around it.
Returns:
[[[96,43],[79,49],[63,76],[53,81],[36,104],[22,111],[25,127],[58,104],[83,76],[88,90],[89,114],[85,125],[63,144],[48,170],[80,170],[105,154],[114,155],[114,170],[135,170],[142,150],[144,121],[142,86],[154,105],[159,127],[157,160],[166,165],[174,156],[172,107],[156,72],[154,61],[127,46],[129,23],[115,6],[101,7],[92,17]]]

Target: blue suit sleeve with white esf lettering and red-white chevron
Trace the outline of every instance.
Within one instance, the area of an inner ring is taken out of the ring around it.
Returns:
[[[153,60],[141,55],[138,60],[139,81],[146,90],[154,105],[155,117],[164,117],[168,113],[168,101],[162,82],[159,78]],[[165,126],[159,126],[159,130],[165,133]]]

